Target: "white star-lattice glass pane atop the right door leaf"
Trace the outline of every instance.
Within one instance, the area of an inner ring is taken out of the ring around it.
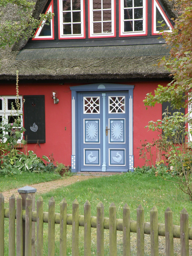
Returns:
[[[125,113],[125,96],[109,97],[109,113]]]

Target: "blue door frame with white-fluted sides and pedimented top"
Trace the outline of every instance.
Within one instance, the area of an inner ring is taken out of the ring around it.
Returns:
[[[71,154],[71,172],[80,171],[80,163],[78,161],[79,145],[78,136],[80,136],[80,129],[78,129],[80,118],[80,93],[82,92],[114,92],[126,91],[129,93],[129,171],[133,172],[134,156],[133,156],[133,89],[134,85],[112,84],[112,83],[95,83],[81,86],[72,86],[71,90],[71,113],[72,113],[72,154]]]

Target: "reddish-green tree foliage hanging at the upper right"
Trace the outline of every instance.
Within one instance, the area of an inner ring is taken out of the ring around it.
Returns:
[[[176,0],[179,17],[174,20],[172,32],[164,31],[162,37],[170,47],[168,58],[157,64],[170,72],[173,79],[167,86],[158,85],[154,94],[147,93],[145,106],[168,101],[172,108],[187,107],[192,101],[192,5],[188,0]]]

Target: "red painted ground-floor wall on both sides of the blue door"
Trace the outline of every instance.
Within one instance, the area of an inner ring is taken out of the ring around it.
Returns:
[[[127,82],[126,84],[135,85],[133,90],[133,154],[134,166],[144,165],[143,159],[139,159],[140,140],[152,142],[157,137],[155,132],[144,128],[150,120],[162,118],[162,106],[155,107],[144,106],[143,99],[146,93],[153,92],[158,84],[166,85],[167,82],[145,81],[145,82]],[[55,161],[62,162],[65,165],[71,165],[71,90],[70,86],[80,84],[55,82],[24,82],[19,81],[19,95],[45,95],[45,125],[46,125],[46,143],[27,145],[27,150],[36,151],[36,154],[49,156],[53,154]],[[15,95],[15,82],[6,81],[0,83],[0,95]],[[54,104],[51,98],[51,91],[57,90],[59,103]],[[25,104],[24,104],[25,108]],[[25,124],[24,124],[25,126]],[[66,127],[66,130],[65,130]]]

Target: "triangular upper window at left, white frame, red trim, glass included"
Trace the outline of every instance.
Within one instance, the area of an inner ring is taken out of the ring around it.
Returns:
[[[53,0],[51,0],[47,10],[45,13],[51,12],[54,13],[53,11]],[[46,20],[43,20],[43,22],[40,24],[40,27],[37,28],[34,34],[34,38],[32,40],[54,40],[54,16],[50,20],[49,25],[46,25]],[[47,35],[46,35],[47,34]]]

